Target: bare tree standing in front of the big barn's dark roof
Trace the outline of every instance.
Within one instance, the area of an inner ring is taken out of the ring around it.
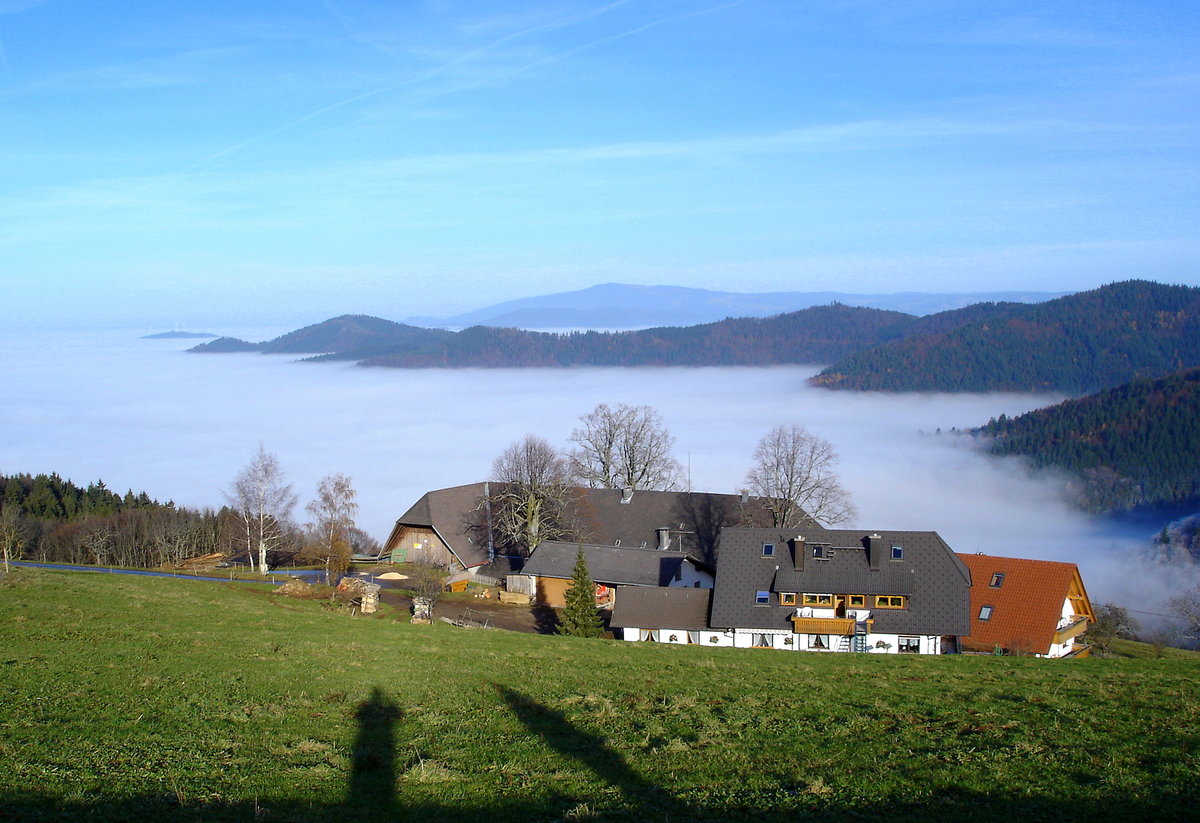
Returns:
[[[566,465],[550,443],[527,434],[492,463],[486,500],[498,548],[528,554],[542,540],[571,536]]]

